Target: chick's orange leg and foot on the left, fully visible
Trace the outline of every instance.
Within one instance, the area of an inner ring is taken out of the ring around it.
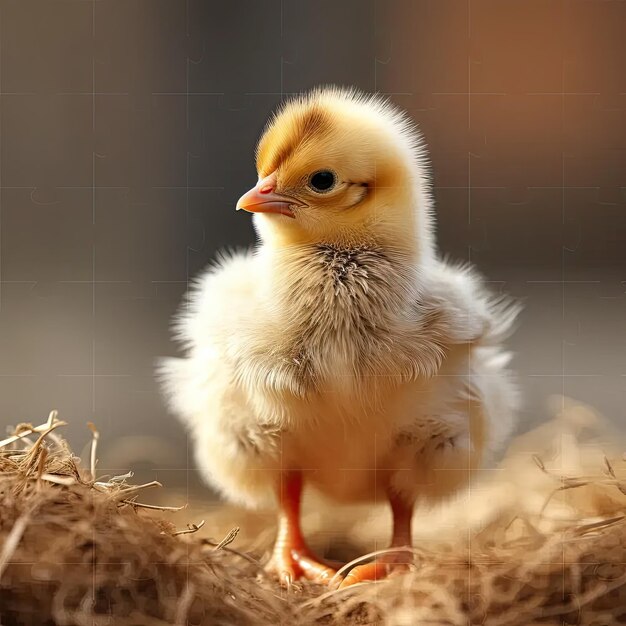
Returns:
[[[335,571],[321,563],[306,545],[300,528],[301,495],[302,474],[286,473],[280,486],[278,534],[272,558],[265,569],[276,574],[280,582],[287,587],[299,578],[327,583],[335,574]]]

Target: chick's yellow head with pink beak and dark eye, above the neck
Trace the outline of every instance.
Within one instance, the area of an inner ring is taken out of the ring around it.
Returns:
[[[264,241],[413,248],[429,230],[425,155],[387,101],[335,88],[288,102],[257,148],[259,181],[237,203]],[[421,232],[420,232],[421,231]]]

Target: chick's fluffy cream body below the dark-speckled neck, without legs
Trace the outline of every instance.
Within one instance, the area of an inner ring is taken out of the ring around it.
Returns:
[[[339,324],[341,340],[321,333],[316,343],[306,326],[290,324],[297,312],[268,302],[263,269],[262,259],[242,255],[207,273],[178,325],[188,356],[161,368],[200,470],[229,499],[274,502],[288,469],[338,501],[371,501],[389,489],[437,499],[506,439],[514,386],[506,355],[488,345],[504,310],[473,276],[441,266],[430,285],[422,277],[432,328],[418,307],[412,326],[404,320],[376,340],[369,326]],[[437,343],[445,356],[436,375],[420,376]],[[364,370],[355,370],[357,360]],[[315,387],[299,388],[303,369]]]

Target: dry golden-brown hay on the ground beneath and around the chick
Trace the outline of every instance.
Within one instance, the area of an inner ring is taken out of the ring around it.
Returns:
[[[210,541],[142,505],[155,483],[95,480],[97,433],[83,468],[53,413],[0,442],[0,623],[626,623],[626,463],[584,441],[594,419],[568,405],[483,487],[424,518],[409,574],[285,592],[235,533]],[[352,539],[366,545],[380,532],[354,527]]]

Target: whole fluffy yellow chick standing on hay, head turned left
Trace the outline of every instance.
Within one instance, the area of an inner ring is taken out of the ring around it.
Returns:
[[[517,307],[435,249],[426,152],[405,114],[356,91],[285,104],[237,203],[253,252],[200,276],[175,323],[183,359],[161,378],[206,479],[275,506],[268,569],[333,570],[300,529],[303,485],[336,502],[388,499],[392,547],[414,506],[467,483],[511,432],[517,393],[500,343]],[[341,583],[402,568],[394,551]]]

